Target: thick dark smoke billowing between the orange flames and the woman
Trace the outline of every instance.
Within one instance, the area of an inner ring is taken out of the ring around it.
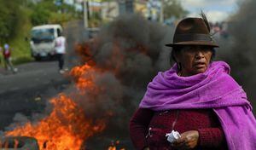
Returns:
[[[171,51],[165,43],[171,42],[172,33],[173,28],[127,14],[103,26],[90,42],[81,43],[80,48],[90,45],[89,60],[106,72],[91,72],[96,77],[94,83],[101,87],[96,95],[95,89],[87,89],[84,95],[73,97],[90,117],[101,118],[111,112],[108,135],[128,136],[129,120],[147,84],[157,72],[170,68]],[[81,58],[81,64],[88,63]]]

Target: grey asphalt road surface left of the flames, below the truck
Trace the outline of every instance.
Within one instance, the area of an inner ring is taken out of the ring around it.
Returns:
[[[13,74],[0,69],[0,130],[12,123],[16,113],[30,116],[44,110],[45,101],[66,89],[70,81],[58,72],[57,61],[16,66]]]

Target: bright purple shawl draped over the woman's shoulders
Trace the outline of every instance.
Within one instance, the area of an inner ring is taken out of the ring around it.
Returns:
[[[230,150],[256,149],[256,120],[244,90],[230,77],[230,66],[215,61],[204,73],[177,76],[177,65],[148,84],[139,107],[154,111],[212,108]]]

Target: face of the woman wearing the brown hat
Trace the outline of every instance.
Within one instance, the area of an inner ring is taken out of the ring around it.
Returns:
[[[206,72],[212,58],[212,49],[207,46],[184,46],[175,56],[181,63],[182,76],[192,76]]]

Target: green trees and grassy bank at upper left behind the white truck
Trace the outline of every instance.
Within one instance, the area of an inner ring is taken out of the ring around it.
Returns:
[[[33,61],[28,40],[32,26],[63,26],[65,22],[77,20],[82,16],[81,12],[75,11],[73,6],[62,1],[44,0],[35,3],[33,0],[0,0],[0,46],[3,48],[4,43],[9,43],[13,49],[14,64]],[[0,59],[3,61],[2,54]]]

